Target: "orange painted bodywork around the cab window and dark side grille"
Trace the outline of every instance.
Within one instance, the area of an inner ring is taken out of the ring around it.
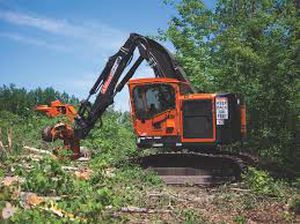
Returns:
[[[175,90],[175,108],[164,111],[155,115],[153,118],[139,120],[136,117],[136,111],[133,102],[133,90],[136,86],[145,86],[151,84],[170,85]],[[134,131],[137,136],[181,136],[181,142],[215,142],[216,141],[216,117],[215,117],[215,94],[198,93],[181,95],[180,84],[187,84],[171,78],[143,78],[129,81],[129,91],[131,99],[131,116]],[[182,102],[184,100],[209,99],[212,102],[213,112],[213,137],[212,138],[184,138],[183,137],[183,120],[182,120]],[[155,128],[155,124],[159,124]]]

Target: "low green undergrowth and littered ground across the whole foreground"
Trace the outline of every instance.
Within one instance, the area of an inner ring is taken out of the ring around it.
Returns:
[[[237,193],[230,185],[209,189],[176,189],[183,196],[174,196],[172,189],[165,186],[157,175],[145,172],[128,159],[143,155],[135,146],[135,136],[129,119],[119,119],[120,114],[110,111],[104,116],[104,126],[95,128],[82,145],[92,151],[88,162],[58,160],[48,156],[35,161],[23,145],[40,149],[53,149],[61,142],[45,143],[40,132],[45,125],[57,122],[44,116],[32,114],[27,118],[1,112],[0,127],[3,142],[6,130],[13,128],[13,149],[0,156],[0,179],[6,176],[20,176],[22,183],[11,186],[0,185],[0,211],[9,202],[16,208],[15,214],[1,223],[217,223],[227,221],[247,223],[251,212],[266,209],[266,204],[289,204],[289,210],[278,220],[294,221],[294,213],[299,211],[297,189],[284,181],[274,180],[266,171],[250,168],[243,176],[242,187],[248,191]],[[74,171],[63,166],[92,170],[90,178],[82,180]],[[39,196],[59,196],[56,202],[46,201],[31,209],[24,208],[24,200],[16,196],[18,192],[33,192]],[[175,193],[176,193],[175,192]],[[162,195],[153,198],[151,194]],[[186,197],[191,200],[186,200]],[[204,204],[192,199],[212,197]],[[292,200],[290,200],[292,199]],[[46,207],[64,211],[70,217],[59,217]],[[171,210],[171,213],[128,214],[120,212],[123,207]],[[269,211],[266,211],[269,213]],[[241,215],[243,214],[243,215]],[[228,216],[228,217],[227,217]]]

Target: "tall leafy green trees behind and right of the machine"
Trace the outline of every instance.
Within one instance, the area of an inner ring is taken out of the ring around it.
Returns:
[[[245,97],[251,148],[300,170],[299,10],[295,1],[166,1],[177,14],[160,31],[192,83]]]

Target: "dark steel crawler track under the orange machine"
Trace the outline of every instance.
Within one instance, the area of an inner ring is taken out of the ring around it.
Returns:
[[[241,173],[255,161],[245,154],[226,152],[160,152],[135,160],[156,172],[168,185],[219,185],[240,180]]]

